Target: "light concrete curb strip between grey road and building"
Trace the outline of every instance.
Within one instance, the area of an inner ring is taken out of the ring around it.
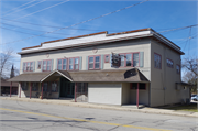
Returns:
[[[52,101],[52,100],[35,100],[35,99],[23,99],[23,98],[1,98],[2,100],[15,100],[15,101],[25,101],[25,102],[40,102],[45,105],[62,105],[62,106],[69,106],[69,107],[80,107],[80,108],[95,108],[95,109],[106,109],[106,110],[119,110],[119,111],[131,111],[131,112],[142,112],[142,113],[154,113],[154,114],[169,114],[169,116],[179,116],[179,117],[193,117],[198,118],[198,112],[176,112],[173,110],[164,110],[164,109],[132,109],[132,108],[124,108],[124,107],[116,107],[116,106],[103,106],[103,105],[92,105],[92,103],[79,103],[79,102],[68,102],[68,101]]]

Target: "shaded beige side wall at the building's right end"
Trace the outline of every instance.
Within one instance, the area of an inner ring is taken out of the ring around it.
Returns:
[[[154,67],[154,53],[162,55],[162,69]],[[167,66],[166,59],[174,62],[174,68]],[[151,44],[151,106],[163,106],[180,102],[189,98],[189,90],[176,90],[175,83],[180,83],[176,64],[180,65],[180,55],[175,51],[152,41]]]

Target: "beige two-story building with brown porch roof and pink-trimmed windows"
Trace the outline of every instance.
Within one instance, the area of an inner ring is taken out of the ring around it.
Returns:
[[[190,97],[182,83],[184,53],[152,29],[55,40],[19,54],[21,75],[9,80],[20,83],[19,97],[150,107]],[[114,54],[119,66],[113,65]]]

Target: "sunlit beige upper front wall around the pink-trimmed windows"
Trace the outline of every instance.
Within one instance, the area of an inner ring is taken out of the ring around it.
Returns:
[[[133,41],[125,41],[125,42],[117,42],[117,43],[109,43],[105,45],[91,46],[91,47],[84,47],[84,48],[74,48],[74,50],[59,50],[59,51],[51,51],[44,53],[34,53],[34,54],[26,54],[21,56],[21,74],[22,74],[22,66],[23,62],[32,62],[35,61],[35,72],[41,72],[41,69],[36,68],[37,61],[43,59],[54,59],[53,69],[56,69],[56,59],[64,58],[64,57],[82,57],[82,70],[86,70],[86,58],[90,55],[106,55],[113,53],[132,53],[132,52],[144,52],[144,67],[140,68],[140,70],[150,79],[150,40],[133,40]],[[97,53],[92,52],[92,48],[98,48]],[[47,55],[50,57],[47,57]],[[129,67],[131,68],[131,67]],[[103,63],[103,69],[118,69],[112,68],[110,63]]]

